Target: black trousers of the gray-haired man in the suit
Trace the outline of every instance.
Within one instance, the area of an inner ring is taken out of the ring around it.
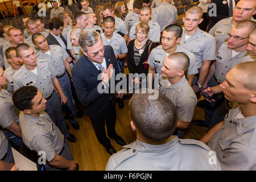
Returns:
[[[99,118],[90,118],[90,121],[92,122],[93,129],[96,133],[96,136],[98,138],[98,141],[103,146],[109,146],[110,140],[106,137],[106,131],[105,131],[105,122],[106,122],[106,129],[108,133],[108,137],[114,138],[117,133],[115,132],[115,120],[116,120],[116,112],[115,112],[115,105],[113,102],[110,102],[109,105],[109,113],[106,115],[106,117],[102,118],[99,116]]]

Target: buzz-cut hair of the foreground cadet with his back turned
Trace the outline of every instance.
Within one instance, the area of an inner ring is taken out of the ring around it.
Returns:
[[[177,126],[177,109],[166,96],[149,100],[149,93],[134,93],[129,102],[130,116],[136,130],[148,142],[160,143],[168,139]]]

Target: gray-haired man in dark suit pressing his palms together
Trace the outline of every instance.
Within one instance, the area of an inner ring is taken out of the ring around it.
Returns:
[[[82,32],[79,45],[84,55],[72,69],[73,85],[80,103],[86,107],[86,114],[92,122],[98,141],[112,155],[116,151],[106,137],[105,121],[108,137],[125,145],[125,141],[115,132],[115,85],[110,81],[110,78],[114,79],[118,74],[114,50],[111,46],[104,47],[100,34],[92,30]],[[114,83],[117,84],[115,81]],[[102,90],[105,92],[102,93]],[[113,91],[109,92],[110,90]],[[121,98],[122,93],[118,97]]]

